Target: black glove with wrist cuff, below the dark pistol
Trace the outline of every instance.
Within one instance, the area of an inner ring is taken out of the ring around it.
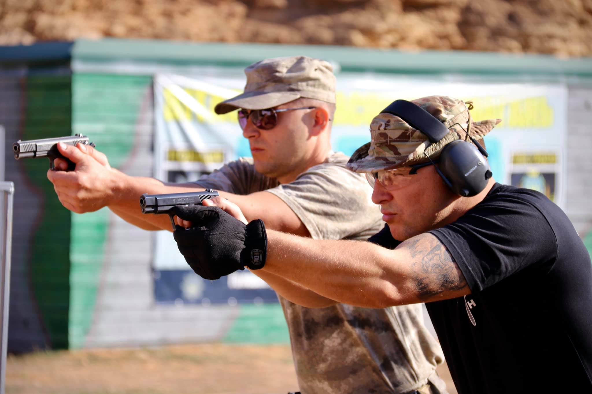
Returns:
[[[245,225],[217,206],[177,205],[172,212],[194,225],[176,226],[173,236],[185,261],[204,279],[265,266],[267,234],[261,219]]]

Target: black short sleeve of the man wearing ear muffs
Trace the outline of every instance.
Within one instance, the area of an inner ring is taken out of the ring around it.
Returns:
[[[479,291],[555,261],[554,231],[536,205],[536,198],[520,193],[488,196],[452,224],[430,232],[448,248],[469,288]]]

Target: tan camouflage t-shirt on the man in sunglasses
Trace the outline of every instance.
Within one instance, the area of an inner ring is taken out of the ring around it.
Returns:
[[[266,190],[298,215],[311,237],[366,240],[384,223],[368,182],[347,170],[347,161],[343,153],[332,153],[294,182],[279,185],[257,173],[252,159],[240,159],[197,183],[240,195]],[[424,327],[421,305],[312,309],[281,296],[279,301],[303,394],[405,393],[423,386],[443,361],[440,345]]]

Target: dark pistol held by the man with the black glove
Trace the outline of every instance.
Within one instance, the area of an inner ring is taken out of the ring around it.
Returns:
[[[204,192],[146,194],[140,197],[140,208],[143,214],[168,214],[175,231],[175,214],[170,209],[175,205],[202,205],[201,202],[219,196],[216,190],[205,189]]]

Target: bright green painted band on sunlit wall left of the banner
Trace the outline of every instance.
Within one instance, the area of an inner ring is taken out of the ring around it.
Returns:
[[[88,135],[120,167],[133,149],[136,121],[151,76],[76,73],[72,77],[72,130]],[[70,244],[70,347],[84,344],[95,313],[105,261],[107,208],[72,214]]]

